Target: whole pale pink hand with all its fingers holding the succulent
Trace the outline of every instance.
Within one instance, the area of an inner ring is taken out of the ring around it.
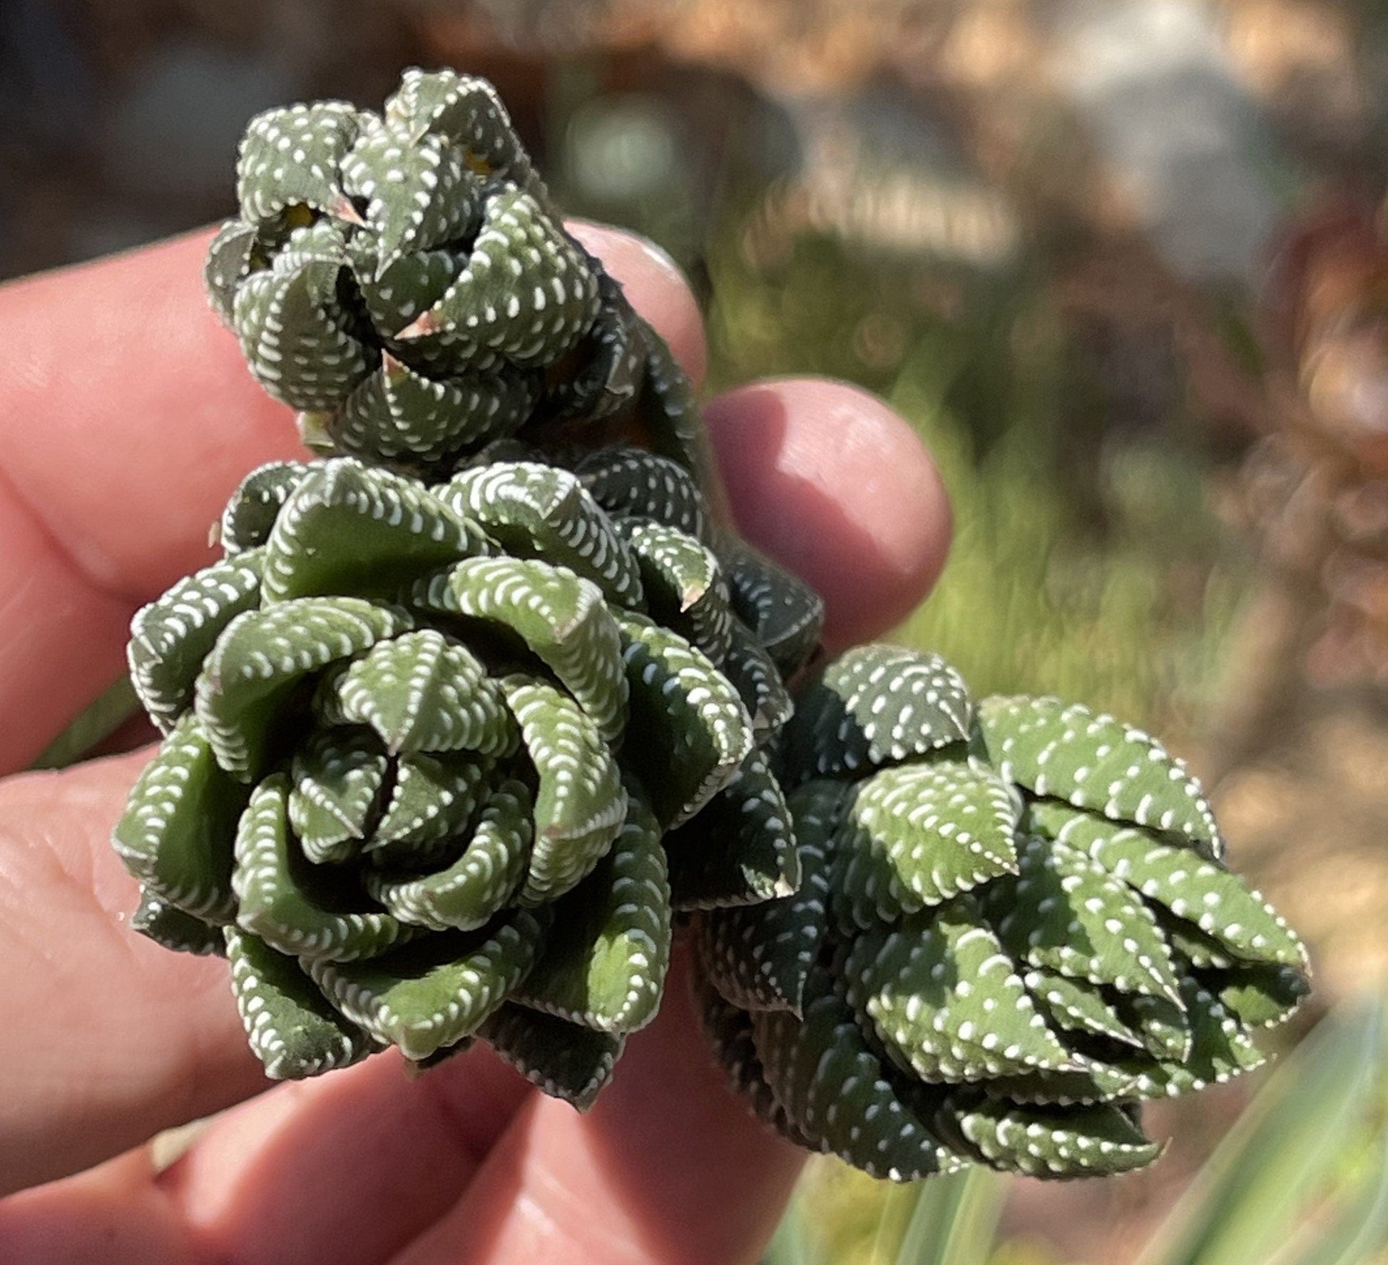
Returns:
[[[702,375],[698,310],[645,243],[575,225]],[[200,283],[207,235],[0,287],[0,1259],[7,1265],[738,1265],[801,1166],[723,1087],[676,957],[659,1018],[579,1115],[486,1048],[269,1086],[225,962],[129,930],[111,826],[149,750],[21,772],[204,565],[240,476],[301,455]],[[743,533],[808,579],[831,647],[929,590],[949,511],[881,401],[818,379],[712,401]],[[147,1140],[222,1112],[172,1166]]]

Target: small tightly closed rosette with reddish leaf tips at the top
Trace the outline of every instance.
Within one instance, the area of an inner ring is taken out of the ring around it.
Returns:
[[[602,422],[693,468],[688,385],[565,231],[484,79],[407,71],[383,114],[257,115],[205,279],[311,447],[437,468]]]

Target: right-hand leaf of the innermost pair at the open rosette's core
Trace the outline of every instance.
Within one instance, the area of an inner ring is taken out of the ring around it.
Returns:
[[[432,861],[487,796],[491,760],[472,751],[415,751],[396,761],[396,785],[366,851],[378,865]]]

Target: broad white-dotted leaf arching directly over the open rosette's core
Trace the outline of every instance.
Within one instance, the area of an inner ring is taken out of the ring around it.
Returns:
[[[476,655],[432,628],[378,642],[326,678],[315,700],[333,725],[369,725],[393,755],[509,755],[518,733],[501,689]]]

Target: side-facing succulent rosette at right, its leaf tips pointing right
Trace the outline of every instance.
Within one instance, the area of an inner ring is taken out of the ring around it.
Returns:
[[[1263,1061],[1309,991],[1196,780],[1055,698],[977,703],[931,654],[849,651],[777,769],[802,886],[697,915],[705,1028],[784,1136],[877,1176],[1152,1161],[1140,1104]]]

